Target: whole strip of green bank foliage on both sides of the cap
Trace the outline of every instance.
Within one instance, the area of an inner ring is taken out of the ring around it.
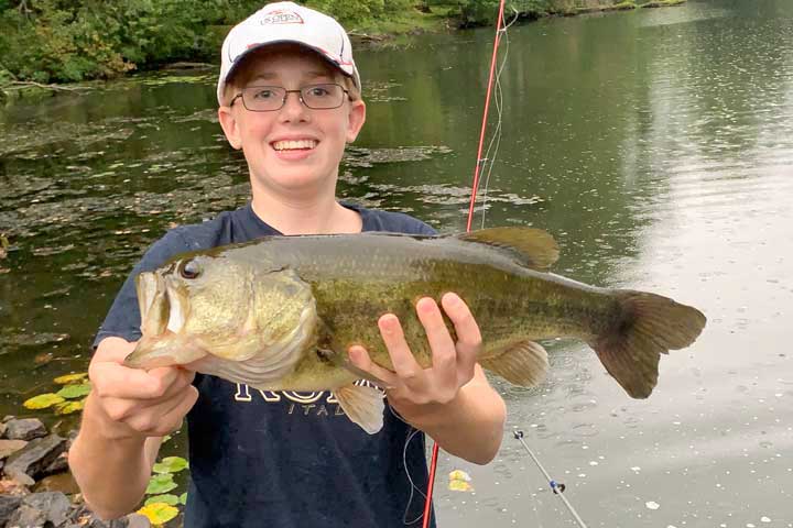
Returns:
[[[457,25],[492,25],[499,0],[298,0],[349,31],[406,31],[427,12]],[[508,0],[507,16],[615,9],[621,0]],[[683,0],[655,0],[670,4]],[[0,86],[10,80],[104,79],[174,61],[217,62],[230,26],[267,0],[0,0]],[[632,1],[618,7],[632,8]],[[421,11],[421,13],[420,13]],[[424,19],[422,19],[424,16]],[[411,26],[410,24],[413,24]]]

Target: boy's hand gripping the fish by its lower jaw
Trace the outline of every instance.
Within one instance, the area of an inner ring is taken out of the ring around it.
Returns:
[[[176,366],[149,372],[123,365],[137,342],[107,338],[88,366],[91,393],[86,414],[98,419],[104,436],[113,439],[162,437],[178,429],[198,399],[191,385],[195,372]]]

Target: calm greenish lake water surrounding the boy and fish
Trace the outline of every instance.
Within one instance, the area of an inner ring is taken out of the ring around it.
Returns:
[[[663,358],[648,400],[576,343],[551,346],[535,389],[493,381],[502,449],[484,468],[442,454],[441,525],[577,526],[512,438],[522,430],[590,527],[793,526],[793,2],[692,0],[507,36],[477,224],[486,210],[486,226],[546,229],[557,273],[670,295],[708,326]],[[359,53],[368,123],[341,196],[465,229],[492,38]],[[0,416],[85,371],[120,283],[169,226],[245,204],[214,76],[0,109]],[[454,469],[474,492],[448,490]]]

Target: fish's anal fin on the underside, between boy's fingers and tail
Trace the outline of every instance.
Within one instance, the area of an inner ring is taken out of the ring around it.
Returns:
[[[514,385],[532,387],[545,378],[547,352],[534,341],[519,341],[503,346],[487,359],[479,360],[486,369]]]

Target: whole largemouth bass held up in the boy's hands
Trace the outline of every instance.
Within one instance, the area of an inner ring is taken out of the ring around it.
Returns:
[[[330,389],[373,433],[383,396],[355,383],[367,375],[347,350],[360,344],[391,369],[377,324],[391,312],[416,361],[431,366],[415,302],[454,292],[479,324],[487,371],[535,385],[548,365],[536,341],[577,338],[630,396],[648,397],[661,354],[694,342],[705,316],[655,294],[547,273],[557,256],[554,239],[531,228],[269,237],[185,253],[137,277],[142,338],[126,364],[188,365],[262,391]]]

